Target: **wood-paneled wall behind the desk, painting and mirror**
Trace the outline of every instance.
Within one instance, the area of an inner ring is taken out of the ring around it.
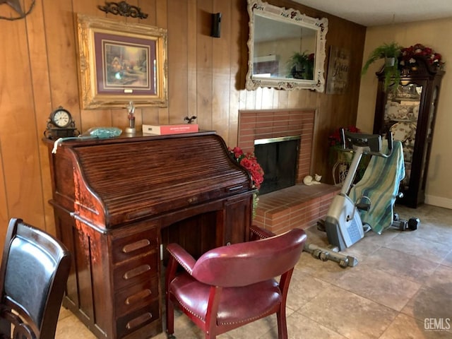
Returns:
[[[20,3],[28,8],[31,1]],[[81,131],[127,124],[125,109],[81,110],[76,13],[167,28],[169,105],[137,109],[138,128],[143,123],[180,123],[187,115],[196,115],[201,129],[218,131],[234,146],[239,109],[314,108],[314,165],[316,172],[328,177],[328,135],[338,126],[355,124],[365,28],[291,1],[269,2],[297,8],[309,16],[328,17],[327,49],[330,45],[344,47],[352,56],[345,95],[244,90],[249,32],[245,0],[129,0],[148,13],[145,20],[107,15],[97,9],[105,5],[101,0],[36,0],[25,19],[0,20],[0,243],[12,217],[54,234],[48,203],[52,197],[49,162],[42,143],[53,109],[59,105],[69,109]],[[210,13],[218,12],[222,13],[221,37],[213,38]],[[0,16],[15,15],[8,4],[0,5]],[[325,70],[327,66],[328,61]]]

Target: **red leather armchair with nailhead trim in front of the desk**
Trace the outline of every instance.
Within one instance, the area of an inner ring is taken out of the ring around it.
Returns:
[[[251,239],[270,235],[251,227]],[[266,239],[218,247],[197,261],[178,244],[169,244],[165,277],[169,337],[174,333],[176,305],[201,328],[206,339],[274,313],[278,338],[287,338],[287,291],[305,241],[304,231],[294,229]],[[184,270],[177,274],[179,265]],[[279,282],[275,280],[278,276]]]

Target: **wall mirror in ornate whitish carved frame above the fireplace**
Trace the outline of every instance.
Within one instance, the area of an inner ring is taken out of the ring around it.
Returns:
[[[248,0],[246,89],[309,88],[323,92],[328,20],[261,0]]]

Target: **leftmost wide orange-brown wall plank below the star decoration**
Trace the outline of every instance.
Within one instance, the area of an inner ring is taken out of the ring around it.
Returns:
[[[44,228],[37,121],[32,93],[30,54],[25,20],[1,20],[0,145],[6,210],[9,218]],[[4,234],[4,232],[3,232]],[[1,243],[1,242],[0,242]]]

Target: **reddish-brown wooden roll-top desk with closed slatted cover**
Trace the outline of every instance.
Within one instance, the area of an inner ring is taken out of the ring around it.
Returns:
[[[162,331],[161,245],[200,256],[249,238],[251,178],[215,132],[66,141],[55,154],[45,142],[73,253],[63,304],[97,338]]]

